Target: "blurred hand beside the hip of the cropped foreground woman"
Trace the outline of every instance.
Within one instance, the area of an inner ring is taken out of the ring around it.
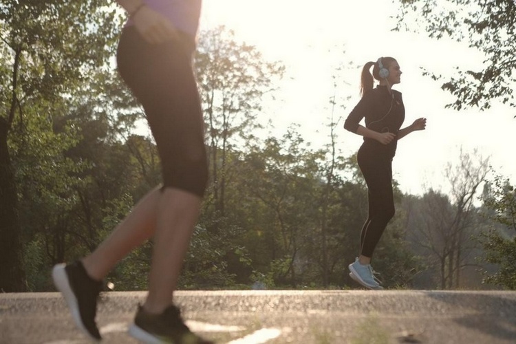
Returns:
[[[138,10],[132,19],[136,30],[145,41],[151,44],[160,44],[178,38],[178,30],[171,21],[147,5]]]

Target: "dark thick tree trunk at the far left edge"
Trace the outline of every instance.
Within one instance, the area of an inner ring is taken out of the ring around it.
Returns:
[[[0,292],[26,291],[18,195],[7,145],[8,121],[0,117]]]

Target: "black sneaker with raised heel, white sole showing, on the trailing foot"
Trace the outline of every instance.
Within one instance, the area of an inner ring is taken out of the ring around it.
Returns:
[[[80,261],[57,264],[52,270],[52,278],[56,288],[65,297],[77,327],[89,338],[100,341],[102,337],[95,323],[95,315],[102,281],[95,281],[89,277]]]

